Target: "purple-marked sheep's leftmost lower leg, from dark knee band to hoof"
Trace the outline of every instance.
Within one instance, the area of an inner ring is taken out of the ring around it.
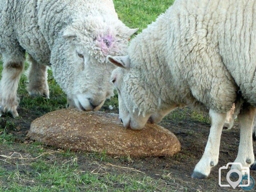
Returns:
[[[17,89],[24,61],[3,59],[2,79],[0,81],[0,116],[5,112],[10,112],[16,118],[19,116],[17,112],[19,103]]]

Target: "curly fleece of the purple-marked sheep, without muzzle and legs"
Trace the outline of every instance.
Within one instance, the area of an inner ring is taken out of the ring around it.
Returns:
[[[65,32],[69,33],[68,38],[62,37]],[[95,95],[104,87],[113,91],[109,83],[113,67],[109,67],[105,57],[125,54],[130,35],[129,28],[118,19],[112,0],[0,2],[3,58],[12,60],[20,49],[25,49],[38,63],[52,64],[56,81],[70,97],[88,90]],[[76,50],[83,52],[88,61],[85,64],[90,65],[88,70],[77,60]],[[93,74],[95,70],[100,71],[99,77]]]

